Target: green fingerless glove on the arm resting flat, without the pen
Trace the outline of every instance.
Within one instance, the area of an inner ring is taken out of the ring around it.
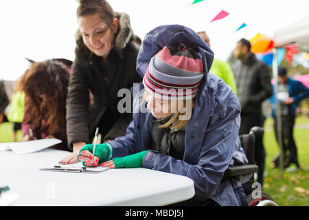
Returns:
[[[146,155],[147,151],[141,151],[139,153],[135,153],[132,155],[128,155],[125,157],[115,157],[113,162],[115,164],[115,168],[135,168],[141,167],[143,164],[143,159]]]

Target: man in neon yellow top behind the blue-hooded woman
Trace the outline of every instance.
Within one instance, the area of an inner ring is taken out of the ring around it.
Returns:
[[[205,43],[207,43],[207,45],[210,47],[209,37],[206,34],[206,32],[197,32],[197,34],[199,36],[201,36],[201,38],[205,41]],[[229,85],[231,87],[231,89],[233,89],[235,94],[237,95],[235,78],[234,78],[233,72],[231,70],[231,67],[229,66],[229,64],[227,62],[220,61],[219,59],[214,58],[214,61],[211,65],[211,69],[209,70],[209,72],[211,72],[211,73],[215,74],[216,76],[222,78],[222,80],[224,80],[225,83],[227,83],[227,85]]]

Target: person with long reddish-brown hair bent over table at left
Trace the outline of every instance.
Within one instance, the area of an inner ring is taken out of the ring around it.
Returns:
[[[58,138],[53,148],[68,150],[65,102],[69,85],[69,66],[52,59],[34,62],[21,76],[19,87],[25,93],[23,140]]]

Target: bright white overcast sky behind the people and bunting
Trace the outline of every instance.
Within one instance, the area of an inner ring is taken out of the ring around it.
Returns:
[[[236,42],[260,32],[273,36],[275,30],[309,16],[308,0],[110,0],[117,12],[130,15],[133,31],[141,39],[163,24],[186,25],[205,30],[215,56],[227,60]],[[76,0],[10,0],[0,6],[0,79],[16,80],[29,63],[47,58],[73,61],[78,28]],[[229,16],[209,23],[220,10]],[[239,32],[236,29],[247,23]]]

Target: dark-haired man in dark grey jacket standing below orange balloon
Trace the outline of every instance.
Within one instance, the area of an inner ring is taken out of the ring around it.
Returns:
[[[246,39],[238,41],[233,50],[237,61],[232,70],[238,89],[238,100],[242,107],[240,135],[249,133],[253,126],[263,126],[262,102],[272,95],[271,75],[264,61],[259,61],[251,52],[251,43]],[[259,166],[258,182],[263,184],[265,150],[262,143],[255,144],[255,162]]]

